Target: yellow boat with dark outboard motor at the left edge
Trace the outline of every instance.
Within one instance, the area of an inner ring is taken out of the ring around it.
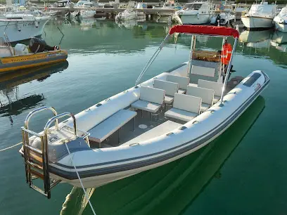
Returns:
[[[32,38],[29,46],[11,44],[0,46],[0,74],[29,67],[49,65],[66,60],[68,52],[59,46],[48,46],[39,38]]]

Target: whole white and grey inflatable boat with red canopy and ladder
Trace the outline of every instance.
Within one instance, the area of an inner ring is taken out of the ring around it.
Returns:
[[[189,62],[140,84],[174,33],[192,35]],[[196,50],[197,35],[223,37],[224,41],[234,37],[233,50],[222,50],[222,54]],[[20,150],[30,188],[48,198],[60,181],[95,188],[170,163],[217,138],[269,84],[262,71],[228,82],[238,36],[228,27],[174,26],[131,89],[75,116],[69,112],[58,115],[53,107],[30,112],[22,128]],[[227,67],[226,53],[231,55]],[[30,131],[31,117],[43,110],[51,110],[55,116],[41,133]],[[70,118],[59,123],[63,117]],[[44,180],[43,190],[33,184],[34,178]]]

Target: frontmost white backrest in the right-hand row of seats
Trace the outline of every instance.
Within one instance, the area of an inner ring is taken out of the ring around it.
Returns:
[[[199,114],[201,107],[201,98],[175,93],[173,107]]]

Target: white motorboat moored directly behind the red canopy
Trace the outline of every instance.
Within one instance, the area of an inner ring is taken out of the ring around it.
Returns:
[[[179,15],[182,24],[205,24],[210,22],[212,15],[215,15],[215,5],[209,1],[195,1],[187,3],[182,10],[175,13]]]

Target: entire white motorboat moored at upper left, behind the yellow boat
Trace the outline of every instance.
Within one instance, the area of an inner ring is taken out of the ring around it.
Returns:
[[[51,16],[34,16],[25,13],[6,13],[0,18],[1,36],[11,42],[42,35]],[[6,32],[6,35],[4,35]]]

